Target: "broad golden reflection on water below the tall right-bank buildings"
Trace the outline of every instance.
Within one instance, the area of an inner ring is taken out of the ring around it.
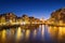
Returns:
[[[62,40],[65,38],[65,27],[49,27],[51,38]]]

